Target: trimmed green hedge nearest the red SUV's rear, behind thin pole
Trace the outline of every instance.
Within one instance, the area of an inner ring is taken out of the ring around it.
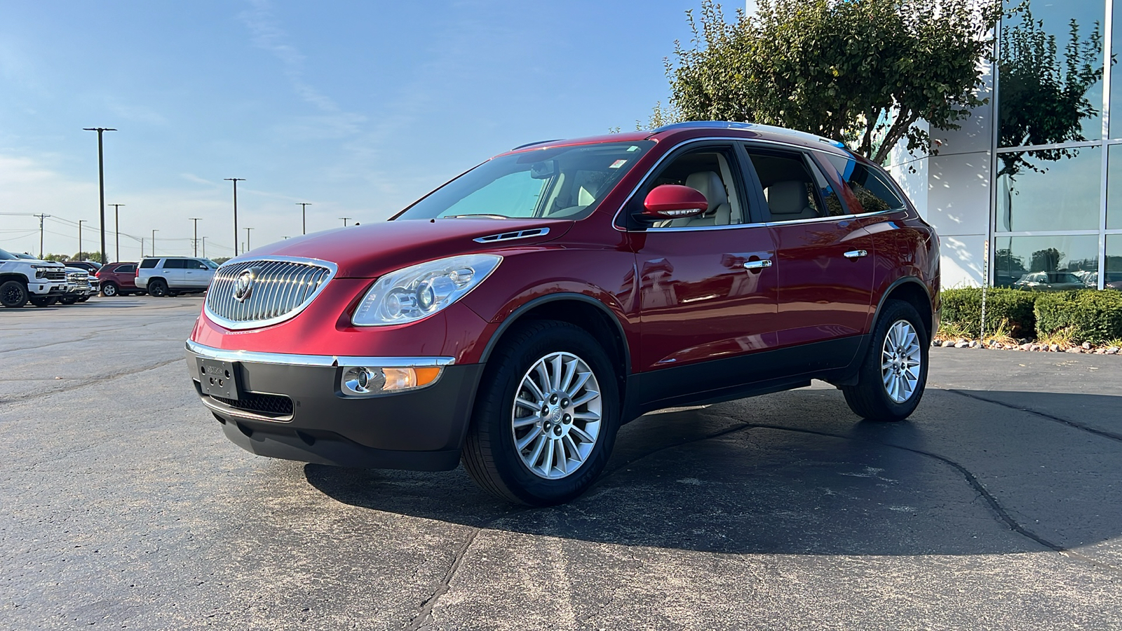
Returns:
[[[1048,294],[990,287],[985,301],[986,330],[992,332],[999,322],[1005,320],[1013,337],[1031,337],[1037,330],[1033,304],[1043,295]],[[972,337],[978,337],[982,326],[982,287],[944,290],[942,321],[957,324]]]

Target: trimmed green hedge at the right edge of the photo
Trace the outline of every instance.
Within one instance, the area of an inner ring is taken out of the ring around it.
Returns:
[[[1041,294],[1034,311],[1037,335],[1041,337],[1067,329],[1076,344],[1104,344],[1122,338],[1122,292],[1079,290]]]

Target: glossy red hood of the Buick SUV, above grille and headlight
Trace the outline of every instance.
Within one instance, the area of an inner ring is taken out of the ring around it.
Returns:
[[[507,246],[528,246],[561,237],[573,221],[564,219],[405,219],[337,228],[285,239],[254,249],[230,262],[268,256],[298,256],[330,260],[339,266],[337,277],[373,278],[416,263],[485,253]],[[545,235],[478,243],[473,239],[549,228]]]

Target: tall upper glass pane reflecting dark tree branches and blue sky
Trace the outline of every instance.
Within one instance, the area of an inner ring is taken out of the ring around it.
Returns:
[[[1103,1],[1032,0],[1002,21],[1000,146],[1102,137],[1104,13]]]

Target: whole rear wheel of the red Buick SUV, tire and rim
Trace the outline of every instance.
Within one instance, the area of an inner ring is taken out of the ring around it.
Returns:
[[[842,386],[849,409],[871,421],[902,421],[911,415],[927,386],[929,346],[916,308],[899,300],[885,302],[857,385]]]

